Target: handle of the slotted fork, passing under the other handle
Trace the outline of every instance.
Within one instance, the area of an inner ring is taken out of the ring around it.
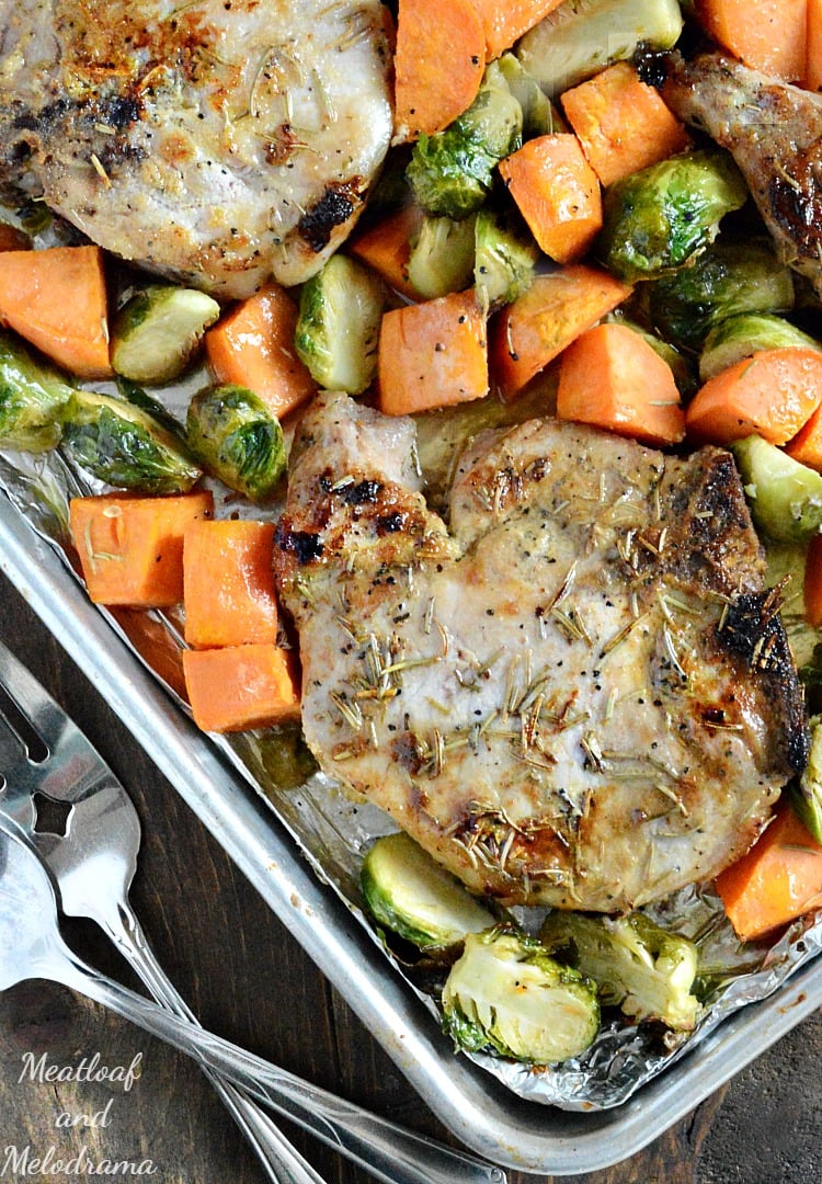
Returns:
[[[158,1003],[181,1019],[198,1024],[193,1011],[155,958],[133,909],[121,903],[116,913],[107,912],[108,916],[98,918],[102,928]],[[271,1184],[326,1184],[255,1101],[207,1066],[203,1066],[203,1072],[245,1135]]]

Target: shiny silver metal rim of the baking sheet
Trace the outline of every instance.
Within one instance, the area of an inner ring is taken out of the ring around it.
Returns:
[[[515,1096],[454,1054],[436,1019],[339,895],[312,873],[261,794],[179,710],[5,496],[0,568],[432,1111],[499,1165],[561,1176],[625,1159],[822,1005],[816,959],[764,1002],[724,1019],[675,1068],[618,1107],[574,1113]]]

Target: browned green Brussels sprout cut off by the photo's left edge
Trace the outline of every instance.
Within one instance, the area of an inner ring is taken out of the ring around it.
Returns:
[[[60,411],[71,398],[57,371],[0,330],[0,448],[44,452],[60,438]]]

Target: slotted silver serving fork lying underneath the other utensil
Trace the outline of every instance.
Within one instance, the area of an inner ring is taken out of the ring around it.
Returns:
[[[66,916],[96,921],[158,1003],[197,1023],[128,899],[141,838],[134,803],[65,712],[2,644],[0,770],[6,781],[0,810],[15,818],[37,847]],[[37,829],[38,800],[69,807],[59,832]],[[269,1114],[211,1069],[204,1072],[271,1184],[325,1184]]]

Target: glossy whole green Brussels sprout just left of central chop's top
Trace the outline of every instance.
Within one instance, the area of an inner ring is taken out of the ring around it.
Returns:
[[[212,477],[251,501],[268,497],[285,471],[277,417],[244,386],[207,386],[188,404],[186,439]]]

